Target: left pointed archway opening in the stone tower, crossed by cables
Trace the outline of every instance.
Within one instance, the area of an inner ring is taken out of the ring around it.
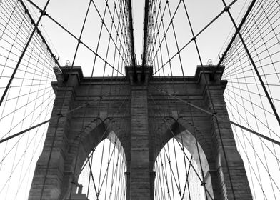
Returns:
[[[114,131],[94,148],[81,168],[77,194],[88,199],[126,199],[126,156]]]

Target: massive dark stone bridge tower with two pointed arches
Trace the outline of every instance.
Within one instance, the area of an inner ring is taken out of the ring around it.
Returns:
[[[91,79],[83,76],[80,67],[64,68],[63,74],[58,74],[59,81],[52,84],[56,92],[53,118],[49,123],[43,152],[36,164],[29,200],[67,199],[66,194],[78,179],[77,174],[86,156],[107,136],[103,133],[110,130],[116,134],[126,155],[128,200],[154,199],[154,161],[174,136],[182,138],[184,147],[196,161],[200,156],[205,186],[214,199],[251,200],[246,171],[236,149],[231,124],[218,119],[218,127],[213,116],[199,109],[191,109],[184,102],[211,111],[210,101],[213,101],[217,115],[229,119],[223,97],[226,81],[221,80],[224,68],[220,67],[212,76],[213,69],[214,66],[199,66],[195,76],[191,77],[153,77],[151,66],[144,69],[136,67],[136,70],[126,66],[126,77]],[[177,101],[161,90],[168,94],[176,91],[176,96],[184,101]],[[124,110],[116,113],[125,98],[131,100],[127,105],[130,107],[129,113],[124,113]],[[84,115],[83,108],[69,112],[88,101],[94,103],[86,106]],[[148,101],[161,105],[161,111]],[[170,101],[176,101],[176,104],[168,103]],[[83,123],[85,127],[81,127]],[[129,127],[129,131],[124,131],[124,126]],[[158,128],[153,131],[151,126]]]

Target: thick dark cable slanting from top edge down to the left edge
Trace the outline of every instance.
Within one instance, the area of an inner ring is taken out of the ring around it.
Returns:
[[[26,49],[28,48],[31,39],[32,39],[32,37],[34,36],[34,33],[35,33],[36,29],[38,28],[38,25],[39,25],[39,23],[40,23],[42,17],[46,14],[46,7],[48,6],[49,1],[50,1],[50,0],[46,1],[46,4],[45,4],[45,6],[44,6],[44,9],[41,11],[41,14],[40,14],[40,16],[39,16],[39,19],[38,19],[38,21],[36,22],[36,24],[34,25],[34,29],[33,29],[33,31],[31,32],[31,35],[29,36],[28,41],[26,42],[26,45],[25,45],[25,47],[24,47],[24,50],[21,51],[21,56],[19,57],[19,61],[17,62],[16,67],[14,68],[13,74],[11,74],[11,78],[9,79],[9,82],[8,82],[8,84],[7,84],[7,86],[6,86],[6,89],[4,90],[4,93],[3,93],[3,95],[2,95],[2,97],[1,97],[1,99],[0,99],[0,106],[1,106],[3,100],[4,100],[5,96],[6,96],[6,93],[7,93],[8,89],[9,89],[9,86],[11,85],[11,81],[13,81],[13,79],[14,79],[14,75],[16,74],[16,70],[19,68],[19,64],[21,63],[21,60],[22,60],[22,58],[24,57],[24,54],[25,54],[25,52],[26,52]]]

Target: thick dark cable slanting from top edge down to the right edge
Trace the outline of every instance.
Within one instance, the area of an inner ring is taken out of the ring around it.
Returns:
[[[224,6],[225,6],[226,8],[228,8],[228,6],[226,6],[226,2],[225,2],[224,0],[222,0],[222,1],[223,1]],[[256,0],[253,0],[253,1],[251,2],[251,4],[254,5],[255,2],[256,2]],[[242,43],[243,46],[244,46],[244,49],[245,49],[245,51],[246,51],[246,54],[249,56],[249,59],[250,59],[250,61],[251,61],[251,64],[252,64],[252,66],[254,67],[254,70],[255,70],[255,72],[256,72],[256,75],[258,76],[258,79],[259,79],[259,81],[260,81],[260,83],[261,83],[261,86],[262,86],[262,88],[264,89],[264,93],[266,94],[267,100],[269,101],[269,104],[270,104],[270,106],[271,106],[271,109],[274,111],[274,115],[275,115],[275,117],[276,117],[276,119],[277,119],[277,121],[278,121],[278,124],[280,125],[280,118],[279,118],[279,115],[278,115],[278,113],[277,113],[277,111],[276,111],[276,109],[275,109],[275,106],[274,106],[274,104],[273,104],[273,102],[272,102],[272,100],[271,100],[271,97],[269,96],[269,92],[267,91],[266,86],[264,85],[264,81],[261,79],[261,76],[260,76],[260,74],[259,74],[259,71],[258,71],[258,69],[256,68],[256,64],[254,63],[254,60],[253,60],[253,58],[252,58],[252,56],[251,56],[251,54],[250,54],[250,52],[249,52],[249,49],[247,48],[247,46],[246,46],[246,44],[245,44],[245,41],[244,41],[244,39],[243,39],[243,36],[241,35],[241,33],[240,33],[238,27],[236,26],[236,23],[235,23],[233,17],[231,16],[231,12],[229,11],[229,9],[227,9],[227,13],[229,14],[229,17],[230,17],[230,19],[231,19],[231,22],[232,22],[232,24],[234,24],[234,27],[235,27],[236,31],[238,32],[239,39],[241,40],[241,43]]]

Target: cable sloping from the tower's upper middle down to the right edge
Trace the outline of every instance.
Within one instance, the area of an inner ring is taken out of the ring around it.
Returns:
[[[248,129],[248,128],[246,128],[245,126],[242,126],[242,125],[240,125],[240,124],[237,124],[237,123],[234,122],[234,121],[231,121],[231,120],[228,120],[228,119],[224,119],[223,117],[221,117],[221,116],[219,116],[219,115],[217,115],[217,114],[215,114],[215,113],[211,113],[210,111],[206,111],[206,110],[202,109],[202,108],[199,107],[199,106],[196,106],[196,105],[194,105],[194,104],[191,104],[191,103],[189,103],[188,101],[185,101],[185,100],[183,100],[183,99],[180,99],[179,97],[174,96],[174,95],[172,95],[172,94],[169,94],[169,93],[167,93],[166,91],[163,91],[163,90],[161,90],[161,89],[158,89],[158,88],[156,88],[155,86],[151,86],[151,87],[154,88],[154,89],[156,89],[157,91],[160,91],[160,92],[163,93],[163,94],[166,94],[166,95],[168,95],[168,96],[173,97],[174,99],[177,99],[177,100],[183,102],[184,104],[187,104],[187,105],[189,105],[189,106],[192,106],[192,107],[194,107],[195,109],[199,109],[200,111],[203,111],[203,112],[206,113],[206,114],[209,114],[209,115],[211,115],[211,116],[214,116],[214,117],[216,117],[217,119],[220,119],[220,120],[222,120],[222,121],[229,122],[230,124],[233,124],[234,126],[238,126],[238,127],[241,128],[241,129],[244,129],[244,130],[246,130],[246,131],[249,131],[250,133],[252,133],[252,134],[254,134],[254,135],[256,135],[256,136],[259,136],[259,137],[261,137],[261,138],[263,138],[263,139],[266,139],[266,140],[268,140],[268,141],[271,141],[271,142],[273,142],[274,144],[277,144],[277,145],[280,146],[280,141],[276,141],[276,140],[274,140],[274,139],[269,138],[268,136],[264,136],[263,134],[259,134],[258,132],[253,131],[253,130],[251,130],[251,129]]]

